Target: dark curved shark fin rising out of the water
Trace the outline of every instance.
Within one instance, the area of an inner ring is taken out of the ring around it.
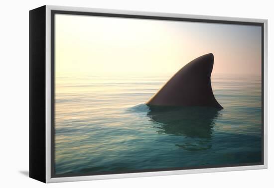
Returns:
[[[146,104],[148,106],[209,106],[223,109],[215,99],[211,88],[213,62],[212,53],[192,60],[174,74]]]

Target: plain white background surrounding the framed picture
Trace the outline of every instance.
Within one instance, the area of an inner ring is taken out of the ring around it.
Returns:
[[[28,173],[28,10],[44,4],[265,18],[269,20],[269,169],[45,185]],[[272,0],[3,0],[0,10],[0,187],[270,188],[274,186]]]

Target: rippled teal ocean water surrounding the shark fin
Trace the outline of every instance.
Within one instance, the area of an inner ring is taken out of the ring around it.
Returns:
[[[261,78],[216,76],[224,107],[144,103],[170,76],[55,80],[55,174],[91,175],[206,168],[262,160]]]

